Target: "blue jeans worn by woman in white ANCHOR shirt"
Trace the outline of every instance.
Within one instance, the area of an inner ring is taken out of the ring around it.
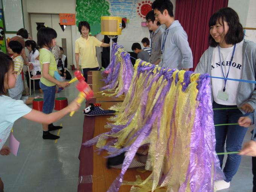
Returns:
[[[230,108],[237,106],[221,105],[213,102],[214,108]],[[247,116],[249,113],[242,114],[239,109],[224,109],[213,111],[214,124],[227,124],[237,123],[238,119],[242,116]],[[239,151],[242,148],[242,142],[247,132],[247,128],[239,125],[222,125],[215,126],[215,137],[216,137],[216,153],[224,152],[224,145],[226,142],[226,151]],[[222,168],[224,155],[218,155],[219,162]],[[241,156],[238,154],[228,154],[227,161],[223,172],[226,176],[226,182],[232,180],[232,177],[236,174],[241,162]]]

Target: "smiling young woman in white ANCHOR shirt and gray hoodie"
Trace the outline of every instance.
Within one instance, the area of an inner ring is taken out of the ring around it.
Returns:
[[[244,31],[238,14],[232,8],[219,9],[209,21],[210,47],[200,58],[196,73],[210,76],[255,81],[256,44],[244,38]],[[252,83],[224,79],[211,79],[214,124],[237,123],[241,116],[247,116],[256,108],[256,90]],[[240,109],[229,109],[241,107]],[[239,151],[247,128],[239,125],[215,126],[216,152]],[[224,155],[219,155],[222,167]],[[241,162],[238,154],[229,154],[223,172],[225,180],[216,181],[217,190],[230,186]]]

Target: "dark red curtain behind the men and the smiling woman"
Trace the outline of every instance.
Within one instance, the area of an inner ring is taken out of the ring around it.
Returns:
[[[175,20],[178,20],[187,33],[193,53],[193,71],[201,55],[209,47],[208,22],[218,9],[227,7],[228,0],[176,0]]]

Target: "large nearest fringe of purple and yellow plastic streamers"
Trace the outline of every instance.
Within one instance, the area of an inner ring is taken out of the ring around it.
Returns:
[[[131,192],[213,191],[214,181],[225,177],[215,152],[208,74],[159,68],[140,59],[134,70],[122,105],[114,106],[119,113],[107,124],[111,131],[83,144],[96,144],[108,157],[127,151],[108,192],[119,191],[121,184],[133,185]],[[152,174],[144,181],[137,177],[123,182],[137,150],[145,145],[145,169]]]

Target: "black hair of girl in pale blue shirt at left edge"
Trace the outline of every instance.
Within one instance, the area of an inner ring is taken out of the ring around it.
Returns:
[[[0,52],[0,95],[6,95],[5,90],[5,75],[9,79],[9,70],[14,68],[14,62],[7,54]]]

